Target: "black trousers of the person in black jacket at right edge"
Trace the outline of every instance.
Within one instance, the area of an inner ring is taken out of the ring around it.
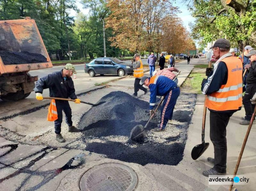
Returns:
[[[243,105],[245,110],[245,120],[250,121],[253,115],[253,111],[255,108],[255,105],[253,105],[250,101],[250,99],[253,98],[253,95],[256,92],[256,84],[247,84],[246,85],[246,91],[243,97]]]

